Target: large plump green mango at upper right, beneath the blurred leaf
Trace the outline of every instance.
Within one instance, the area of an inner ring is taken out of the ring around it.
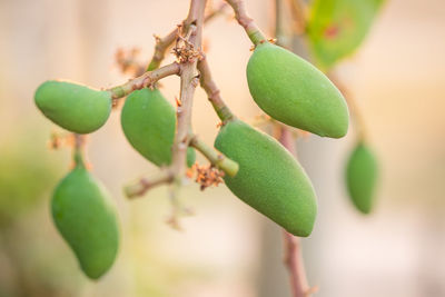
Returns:
[[[247,65],[247,81],[256,103],[286,125],[332,138],[348,130],[348,108],[338,89],[309,62],[265,42]]]

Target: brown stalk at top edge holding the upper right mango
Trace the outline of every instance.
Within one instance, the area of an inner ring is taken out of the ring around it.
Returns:
[[[226,2],[234,9],[236,20],[246,30],[247,36],[255,46],[266,40],[265,34],[254,19],[247,14],[244,0],[226,0]]]

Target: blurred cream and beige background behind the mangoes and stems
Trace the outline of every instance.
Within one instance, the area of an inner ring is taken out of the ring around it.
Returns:
[[[246,2],[273,36],[273,1]],[[132,201],[122,196],[122,185],[157,169],[126,141],[119,110],[88,143],[92,172],[119,208],[115,267],[100,281],[88,280],[52,225],[51,191],[71,166],[70,149],[49,149],[51,132],[61,130],[38,112],[36,88],[53,78],[97,88],[123,82],[116,50],[138,47],[148,60],[152,34],[169,32],[188,4],[0,0],[0,296],[290,296],[281,230],[225,186],[184,189],[195,216],[181,220],[182,231],[165,224],[166,187]],[[249,120],[260,113],[245,77],[250,43],[230,16],[206,27],[208,60],[222,97]],[[337,67],[380,165],[370,216],[354,209],[344,187],[354,129],[340,140],[298,140],[318,195],[315,230],[303,240],[316,296],[445,296],[444,16],[442,0],[389,0],[360,50]],[[174,101],[179,80],[162,86]],[[218,119],[202,90],[195,102],[194,128],[212,143]]]

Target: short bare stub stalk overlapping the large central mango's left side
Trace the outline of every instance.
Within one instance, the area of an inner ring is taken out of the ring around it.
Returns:
[[[200,140],[197,136],[190,139],[190,146],[199,150],[216,168],[222,170],[226,175],[234,177],[239,169],[236,161],[227,158],[221,152],[215,150]]]

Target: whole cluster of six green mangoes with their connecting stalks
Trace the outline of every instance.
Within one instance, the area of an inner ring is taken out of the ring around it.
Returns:
[[[36,91],[37,107],[48,119],[69,131],[91,133],[107,121],[112,100],[128,96],[121,110],[121,127],[129,143],[148,161],[169,168],[175,162],[175,154],[187,150],[185,162],[190,167],[195,162],[195,150],[198,150],[226,174],[225,184],[239,199],[290,234],[309,236],[317,214],[316,194],[309,178],[276,139],[234,116],[220,100],[212,81],[202,81],[209,77],[205,56],[196,47],[190,48],[194,46],[191,38],[199,36],[190,30],[201,27],[199,17],[197,19],[185,21],[178,40],[185,40],[182,46],[188,48],[177,48],[176,52],[199,55],[178,58],[178,62],[161,68],[150,67],[150,71],[141,77],[107,90],[69,81],[47,81]],[[245,29],[255,44],[247,65],[248,88],[264,112],[279,122],[323,137],[345,136],[348,108],[334,83],[309,62],[267,41],[251,23]],[[185,67],[190,66],[200,70],[201,85],[222,122],[215,149],[196,140],[190,127],[186,127],[190,137],[176,141],[178,130],[184,128],[178,119],[186,111],[180,110],[182,102],[175,110],[155,83],[162,77],[178,75],[181,85],[194,85],[195,80],[185,79]],[[98,278],[112,265],[118,250],[117,216],[105,188],[87,171],[79,149],[75,150],[75,169],[56,188],[52,215],[82,270],[90,278]],[[363,146],[357,148],[348,166],[349,190],[364,212],[369,211],[373,166],[372,157]],[[370,174],[360,177],[364,167]],[[168,172],[162,181],[178,181],[178,175],[179,180],[182,178],[181,171]]]

